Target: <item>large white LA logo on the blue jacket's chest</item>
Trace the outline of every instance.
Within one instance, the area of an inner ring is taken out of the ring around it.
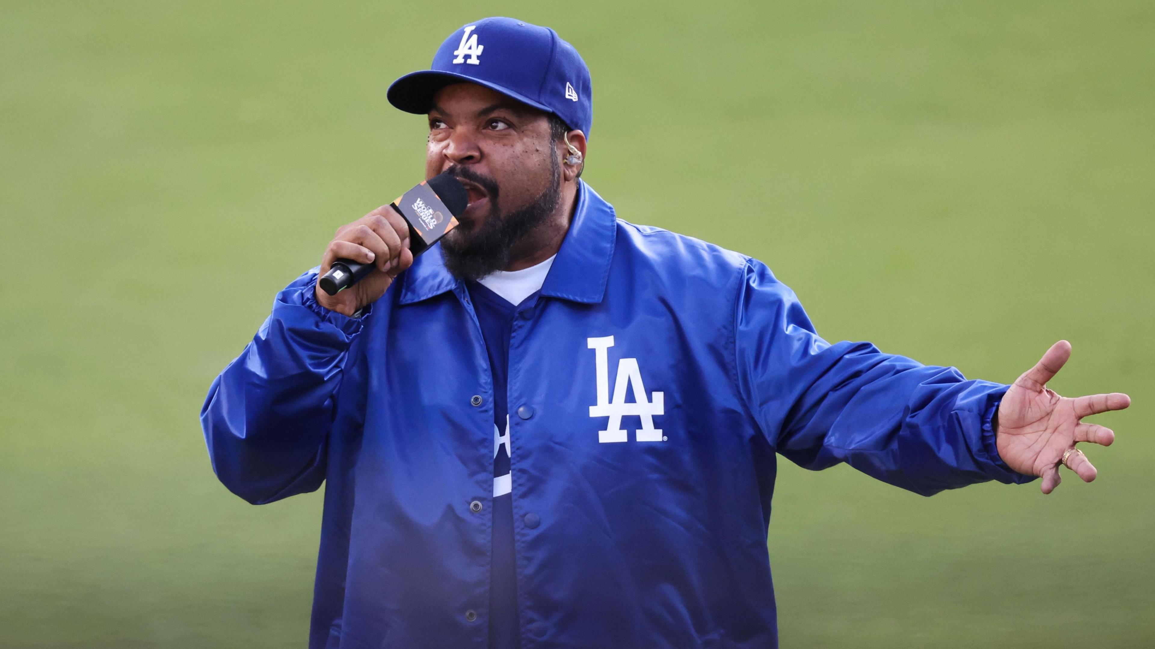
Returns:
[[[621,428],[621,418],[627,415],[638,416],[642,427],[634,431],[638,441],[665,441],[662,428],[654,427],[654,416],[665,413],[665,394],[654,391],[646,396],[646,385],[638,367],[636,358],[618,360],[618,375],[613,381],[613,401],[610,401],[610,359],[606,350],[613,346],[613,336],[586,338],[586,345],[594,350],[595,371],[597,373],[597,404],[589,406],[590,417],[609,417],[604,431],[597,432],[598,442],[626,441],[626,431]],[[626,402],[626,388],[634,393],[634,401]]]

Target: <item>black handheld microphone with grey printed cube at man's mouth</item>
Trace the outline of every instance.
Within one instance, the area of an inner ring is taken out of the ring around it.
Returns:
[[[457,217],[469,206],[469,194],[460,180],[448,173],[434,176],[389,203],[409,224],[409,251],[413,258],[457,226]],[[330,296],[352,286],[373,271],[373,263],[338,259],[321,276],[321,290]]]

